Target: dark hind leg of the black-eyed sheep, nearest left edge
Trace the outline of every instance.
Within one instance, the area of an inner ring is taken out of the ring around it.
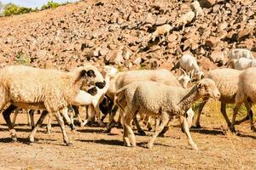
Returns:
[[[14,128],[15,125],[11,122],[9,116],[16,109],[17,109],[17,107],[15,105],[9,105],[9,107],[5,111],[3,111],[3,118],[9,127],[9,132],[10,132],[10,135],[11,135],[11,138],[13,139],[13,141],[17,141],[17,135],[16,135],[15,128]]]

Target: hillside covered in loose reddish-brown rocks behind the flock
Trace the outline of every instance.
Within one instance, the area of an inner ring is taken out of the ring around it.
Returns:
[[[181,17],[195,11],[192,0],[89,0],[0,18],[0,64],[172,68],[182,54],[192,53],[207,70],[223,66],[231,48],[248,48],[256,56],[255,1],[199,2],[204,14],[184,30]]]

